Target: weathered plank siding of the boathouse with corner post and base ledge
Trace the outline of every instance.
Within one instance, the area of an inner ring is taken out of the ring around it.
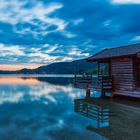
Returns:
[[[137,89],[137,64],[134,59],[112,59],[111,71],[114,77],[114,94],[140,97]]]

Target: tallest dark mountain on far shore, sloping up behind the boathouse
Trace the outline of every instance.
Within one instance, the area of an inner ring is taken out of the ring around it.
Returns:
[[[76,60],[72,62],[52,63],[47,66],[41,66],[35,69],[35,73],[49,73],[49,74],[76,74],[82,73],[89,69],[96,67],[96,64],[87,62],[86,60]]]

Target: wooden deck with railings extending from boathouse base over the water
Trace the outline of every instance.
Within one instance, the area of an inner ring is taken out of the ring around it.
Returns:
[[[92,77],[91,75],[76,75],[74,79],[74,86],[81,89],[89,89],[90,91],[99,91],[102,94],[105,92],[113,92],[113,96],[122,95],[134,98],[140,98],[140,87],[121,86],[122,81],[114,82],[114,78],[109,76]],[[123,81],[124,82],[124,81]],[[126,85],[126,82],[124,82]]]

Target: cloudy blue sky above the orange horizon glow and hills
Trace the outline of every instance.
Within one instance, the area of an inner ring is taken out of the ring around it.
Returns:
[[[0,64],[47,65],[140,42],[140,0],[0,0]]]

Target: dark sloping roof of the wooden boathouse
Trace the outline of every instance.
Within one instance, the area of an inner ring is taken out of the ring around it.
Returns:
[[[140,53],[140,43],[117,48],[104,49],[101,52],[89,57],[87,61],[97,61],[101,59],[110,59],[124,56],[135,56],[138,53]]]

